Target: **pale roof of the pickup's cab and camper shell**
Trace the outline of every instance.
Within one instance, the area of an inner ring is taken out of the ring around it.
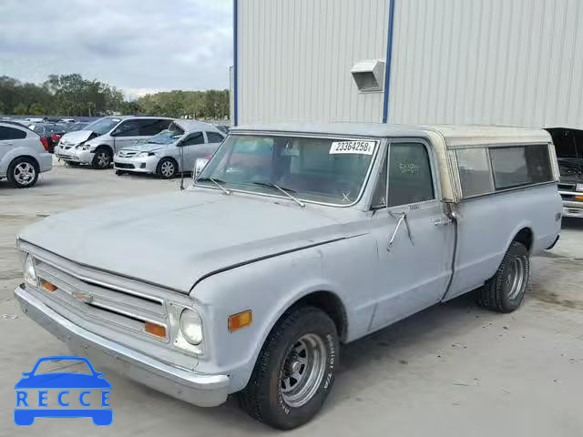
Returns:
[[[446,146],[455,148],[477,145],[549,143],[551,137],[544,129],[481,125],[386,125],[383,123],[279,123],[233,127],[230,131],[302,132],[335,134],[347,137],[443,137]]]

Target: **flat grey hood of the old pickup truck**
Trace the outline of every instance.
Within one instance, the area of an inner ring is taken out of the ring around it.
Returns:
[[[56,214],[18,238],[91,268],[188,293],[217,270],[350,237],[326,212],[196,188]]]

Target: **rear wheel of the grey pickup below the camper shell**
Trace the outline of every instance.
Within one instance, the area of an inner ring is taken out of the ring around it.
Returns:
[[[477,303],[490,310],[512,312],[520,306],[529,285],[528,250],[523,244],[513,241],[496,274],[477,291]]]

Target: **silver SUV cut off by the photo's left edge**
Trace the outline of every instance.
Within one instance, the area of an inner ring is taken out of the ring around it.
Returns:
[[[0,179],[16,188],[30,188],[38,174],[53,168],[48,145],[36,132],[18,123],[0,122]]]

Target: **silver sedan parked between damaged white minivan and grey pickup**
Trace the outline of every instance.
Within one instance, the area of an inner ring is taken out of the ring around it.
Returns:
[[[156,174],[169,179],[194,168],[197,158],[210,158],[224,134],[209,123],[196,120],[174,120],[145,142],[118,150],[113,167],[121,175],[126,172]]]

